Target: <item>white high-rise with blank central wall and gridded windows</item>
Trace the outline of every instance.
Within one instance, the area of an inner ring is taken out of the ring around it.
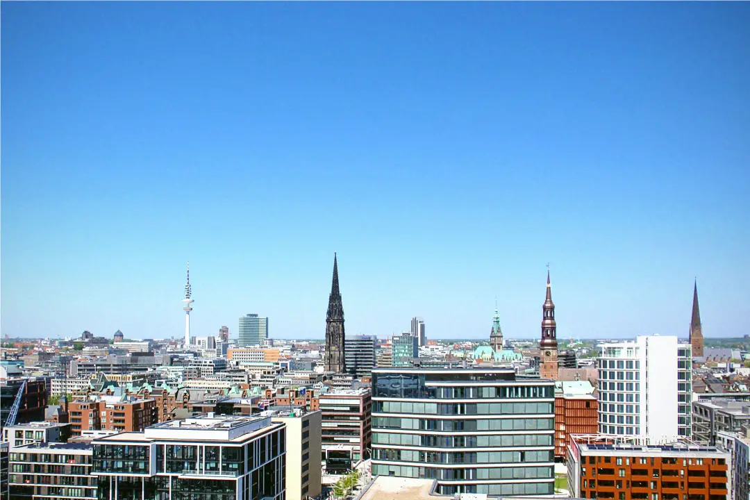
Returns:
[[[691,436],[691,347],[677,337],[601,344],[599,433]]]

